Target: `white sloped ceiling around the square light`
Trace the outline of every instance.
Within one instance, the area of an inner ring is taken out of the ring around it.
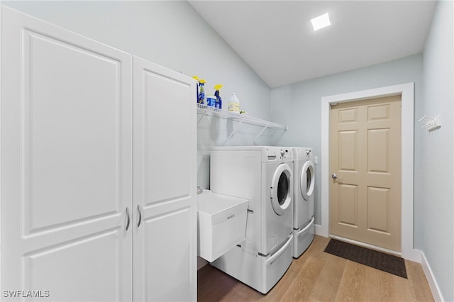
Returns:
[[[274,88],[422,52],[436,1],[189,3]]]

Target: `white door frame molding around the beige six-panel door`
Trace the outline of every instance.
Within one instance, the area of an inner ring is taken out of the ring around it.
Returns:
[[[329,112],[331,104],[363,101],[402,94],[402,257],[421,262],[421,251],[413,248],[414,179],[414,83],[385,86],[321,98],[321,225],[316,235],[329,236]]]

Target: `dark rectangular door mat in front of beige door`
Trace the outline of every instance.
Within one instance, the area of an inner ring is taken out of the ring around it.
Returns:
[[[325,252],[406,278],[405,260],[400,257],[332,238],[326,245]]]

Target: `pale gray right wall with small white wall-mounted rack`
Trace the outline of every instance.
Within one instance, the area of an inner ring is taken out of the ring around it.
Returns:
[[[415,220],[423,251],[444,301],[454,301],[454,40],[452,1],[439,1],[423,52],[424,94],[421,115],[440,115],[441,128],[418,127],[421,157],[416,162]],[[416,117],[419,118],[418,115]]]

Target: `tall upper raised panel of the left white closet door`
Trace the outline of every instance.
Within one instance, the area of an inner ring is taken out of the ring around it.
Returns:
[[[120,62],[30,30],[24,40],[27,235],[121,212]]]

